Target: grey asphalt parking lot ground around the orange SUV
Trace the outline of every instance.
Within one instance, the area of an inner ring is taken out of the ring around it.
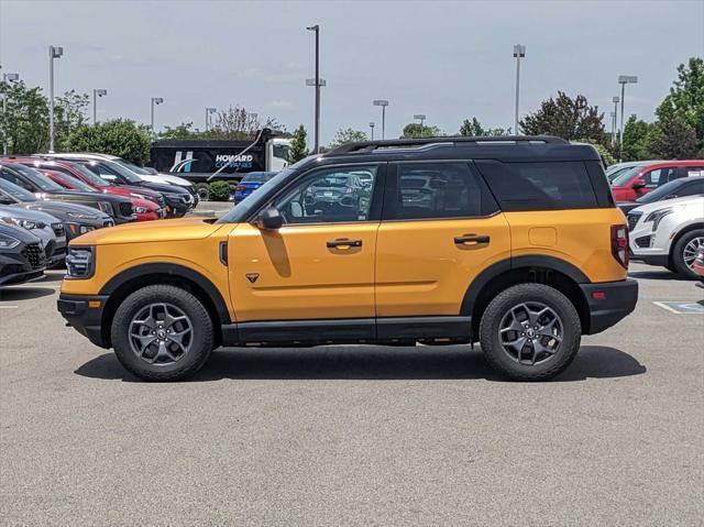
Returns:
[[[138,382],[0,293],[2,525],[702,525],[704,315],[632,264],[634,315],[542,384],[479,349],[229,349]]]

